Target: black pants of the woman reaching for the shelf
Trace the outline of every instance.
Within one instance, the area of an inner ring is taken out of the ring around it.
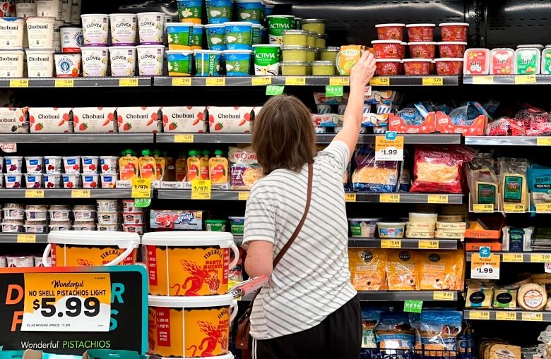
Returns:
[[[362,311],[355,296],[316,327],[275,339],[254,340],[252,352],[253,359],[358,359],[361,346]]]

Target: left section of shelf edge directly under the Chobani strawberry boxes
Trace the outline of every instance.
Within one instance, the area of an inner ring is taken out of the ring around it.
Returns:
[[[153,143],[153,133],[18,133],[0,135],[2,142],[16,143]]]

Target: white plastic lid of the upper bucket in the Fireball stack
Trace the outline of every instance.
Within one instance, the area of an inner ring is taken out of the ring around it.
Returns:
[[[143,245],[166,245],[168,247],[218,246],[230,247],[233,243],[232,233],[228,232],[148,232],[141,238]]]

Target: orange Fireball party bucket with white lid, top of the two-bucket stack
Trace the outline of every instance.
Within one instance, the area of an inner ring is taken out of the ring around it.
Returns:
[[[228,270],[239,260],[233,236],[226,232],[150,232],[141,244],[147,250],[149,293],[158,296],[226,293]]]

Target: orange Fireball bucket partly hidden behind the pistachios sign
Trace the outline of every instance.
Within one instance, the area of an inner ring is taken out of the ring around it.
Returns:
[[[42,262],[49,267],[51,253],[52,267],[134,264],[139,243],[136,233],[59,231],[48,234]]]

